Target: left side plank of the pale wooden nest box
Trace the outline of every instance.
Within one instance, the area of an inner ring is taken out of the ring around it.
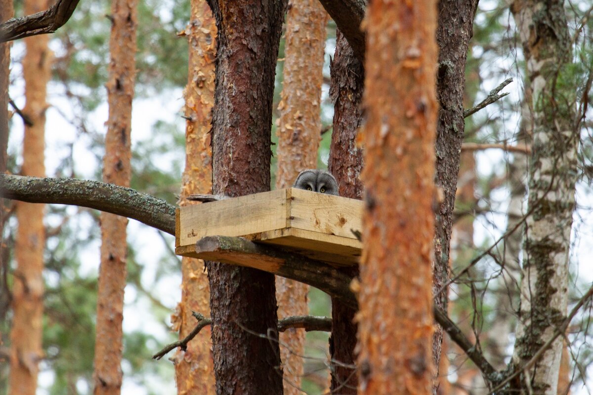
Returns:
[[[205,236],[247,236],[286,227],[286,190],[180,207],[179,247]]]

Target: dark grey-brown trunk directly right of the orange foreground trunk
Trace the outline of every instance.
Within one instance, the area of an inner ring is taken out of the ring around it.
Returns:
[[[439,46],[436,97],[439,102],[436,127],[436,185],[442,188],[443,200],[436,210],[434,289],[442,288],[449,273],[449,246],[457,175],[464,136],[463,94],[467,47],[473,33],[478,0],[439,1],[436,42]],[[454,31],[455,34],[451,34]],[[435,296],[435,303],[447,310],[447,291]],[[441,357],[442,329],[435,331],[433,357],[436,366]]]

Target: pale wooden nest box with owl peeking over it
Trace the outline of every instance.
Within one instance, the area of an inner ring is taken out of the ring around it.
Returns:
[[[289,188],[177,209],[176,253],[200,258],[197,240],[240,236],[285,246],[310,258],[353,265],[361,242],[362,202]]]

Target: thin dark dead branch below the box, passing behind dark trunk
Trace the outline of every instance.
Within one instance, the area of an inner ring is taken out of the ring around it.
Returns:
[[[212,325],[212,319],[206,318],[202,314],[196,313],[196,311],[193,311],[192,315],[197,319],[196,327],[192,330],[192,332],[190,332],[189,335],[187,335],[182,340],[164,346],[161,349],[161,351],[157,352],[157,354],[155,355],[152,355],[152,359],[161,359],[168,352],[170,352],[173,349],[176,349],[177,347],[181,347],[181,350],[186,351],[187,343],[189,343],[193,338],[195,338],[196,335],[200,333],[200,330],[202,330],[203,327]],[[327,317],[292,316],[278,320],[279,332],[284,332],[285,330],[290,328],[303,328],[307,332],[311,332],[312,330],[330,332],[331,319]]]

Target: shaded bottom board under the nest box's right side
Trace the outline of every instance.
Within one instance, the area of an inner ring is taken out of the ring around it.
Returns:
[[[339,266],[358,264],[362,251],[362,243],[357,239],[295,228],[263,232],[259,240],[266,244],[288,247],[308,258]]]

